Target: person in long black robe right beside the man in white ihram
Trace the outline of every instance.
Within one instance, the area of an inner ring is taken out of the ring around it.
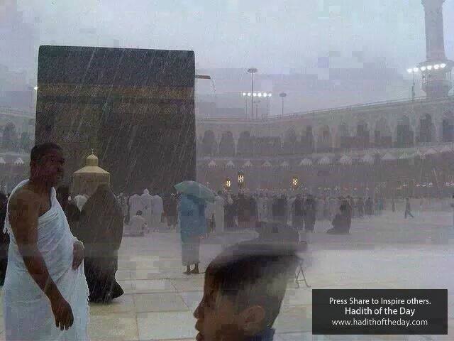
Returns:
[[[123,289],[115,280],[123,237],[123,212],[109,185],[99,185],[89,197],[74,232],[74,236],[84,242],[90,301],[109,303],[123,295]]]

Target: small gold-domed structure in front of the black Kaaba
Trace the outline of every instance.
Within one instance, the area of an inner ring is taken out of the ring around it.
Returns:
[[[72,193],[92,195],[99,185],[109,185],[111,174],[99,165],[99,159],[94,153],[87,157],[85,166],[72,174]]]

